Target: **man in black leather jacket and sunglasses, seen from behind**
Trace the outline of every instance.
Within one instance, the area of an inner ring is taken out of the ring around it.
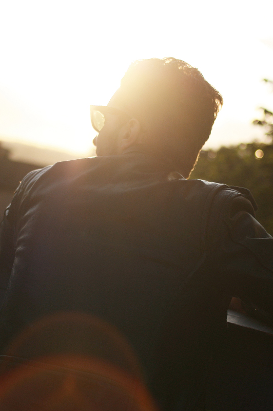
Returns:
[[[221,104],[187,63],[137,61],[91,107],[97,157],[25,177],[2,223],[3,353],[38,319],[91,314],[124,335],[161,409],[192,409],[231,296],[273,312],[250,193],[187,179]]]

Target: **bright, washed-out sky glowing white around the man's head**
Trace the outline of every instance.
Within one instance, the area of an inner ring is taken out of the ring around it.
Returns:
[[[273,109],[273,2],[2,0],[0,140],[93,152],[89,105],[106,105],[129,64],[175,57],[224,105],[206,147],[262,138]]]

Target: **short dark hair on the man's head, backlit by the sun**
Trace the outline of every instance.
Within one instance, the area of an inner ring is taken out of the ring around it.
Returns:
[[[116,97],[146,128],[147,143],[188,178],[223,104],[219,92],[197,68],[171,57],[133,62]]]

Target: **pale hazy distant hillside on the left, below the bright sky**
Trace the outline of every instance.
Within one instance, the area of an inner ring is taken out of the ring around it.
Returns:
[[[67,161],[79,158],[81,156],[73,156],[72,154],[59,152],[55,150],[49,150],[48,148],[35,147],[33,145],[27,145],[22,143],[14,143],[10,141],[4,141],[0,138],[3,148],[10,150],[9,158],[13,161],[22,161],[31,164],[37,164],[41,166],[54,164],[58,161]],[[90,153],[82,157],[94,156],[95,153]]]

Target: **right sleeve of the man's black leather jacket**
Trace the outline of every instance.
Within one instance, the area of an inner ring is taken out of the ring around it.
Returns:
[[[251,198],[232,196],[210,255],[214,284],[273,315],[273,238],[254,217]]]

